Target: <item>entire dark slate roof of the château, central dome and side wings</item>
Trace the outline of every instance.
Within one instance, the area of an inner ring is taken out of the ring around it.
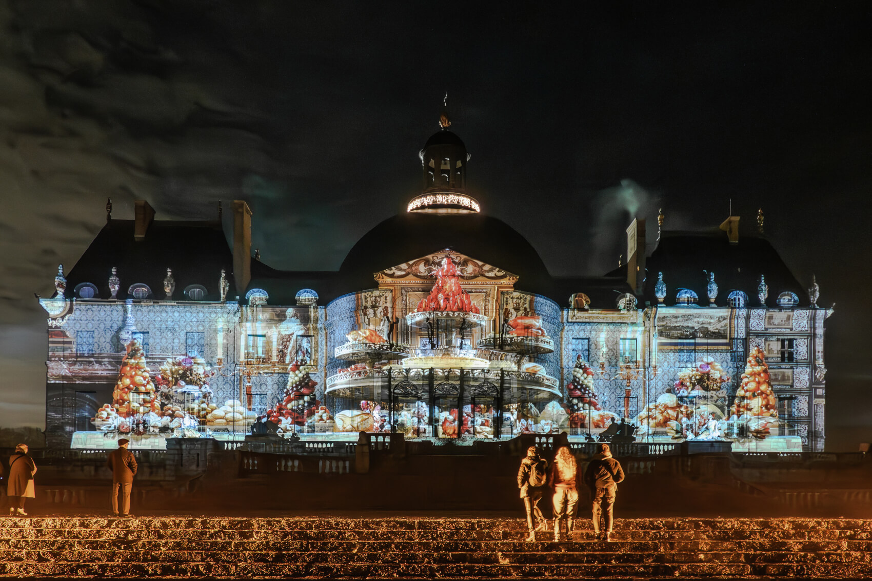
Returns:
[[[74,296],[78,284],[92,283],[98,287],[100,298],[108,298],[108,278],[115,266],[121,280],[119,299],[127,297],[127,290],[134,283],[147,284],[153,298],[163,298],[167,267],[173,269],[176,300],[186,299],[182,291],[188,284],[206,287],[204,300],[219,300],[221,269],[227,270],[230,284],[227,298],[235,299],[233,253],[220,222],[155,220],[140,242],[133,238],[133,228],[133,220],[106,222],[66,274],[66,297]],[[406,213],[388,218],[365,234],[338,271],[276,270],[252,259],[247,291],[263,289],[269,294],[269,304],[294,305],[297,291],[309,288],[317,292],[318,304],[324,305],[346,293],[375,288],[373,273],[378,270],[444,248],[517,274],[520,277],[515,284],[517,290],[552,298],[562,308],[569,306],[572,294],[583,292],[590,297],[593,308],[614,309],[620,294],[632,292],[624,276],[625,267],[603,277],[551,277],[527,239],[496,218]],[[763,236],[740,236],[739,243],[730,244],[726,233],[719,229],[664,230],[657,248],[647,259],[646,270],[644,288],[638,295],[640,307],[646,302],[657,304],[654,295],[657,272],[664,273],[668,289],[664,304],[675,304],[676,293],[682,287],[697,293],[698,304],[708,304],[704,270],[715,273],[719,306],[727,305],[727,295],[732,290],[744,291],[750,299],[749,306],[759,304],[757,285],[761,274],[769,285],[766,301],[769,306],[776,305],[782,291],[795,292],[800,305],[808,304],[804,285]]]

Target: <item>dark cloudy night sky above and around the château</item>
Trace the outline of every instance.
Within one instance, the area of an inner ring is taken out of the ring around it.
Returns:
[[[872,441],[872,4],[580,4],[0,0],[0,426],[44,425],[33,293],[107,197],[245,199],[264,263],[334,270],[419,191],[448,92],[471,193],[554,275],[614,269],[631,215],[763,208],[837,303],[827,447]]]

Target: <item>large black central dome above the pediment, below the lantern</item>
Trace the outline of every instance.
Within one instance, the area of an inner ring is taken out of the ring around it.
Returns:
[[[447,132],[443,132],[447,133]],[[348,292],[371,289],[378,270],[450,248],[518,275],[515,288],[550,297],[554,281],[524,236],[487,215],[399,214],[381,222],[356,243],[339,277]]]

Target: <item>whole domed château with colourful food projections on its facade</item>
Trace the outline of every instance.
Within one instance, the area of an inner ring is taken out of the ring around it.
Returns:
[[[420,152],[421,194],[336,272],[252,260],[245,202],[233,202],[232,245],[220,214],[156,221],[146,202],[134,220],[107,214],[40,299],[49,444],[239,440],[260,419],[325,441],[584,438],[623,419],[640,441],[823,449],[832,311],[762,236],[762,214],[742,236],[737,216],[689,233],[660,215],[651,252],[636,220],[618,270],[552,277],[523,236],[480,213],[470,156],[441,125]]]

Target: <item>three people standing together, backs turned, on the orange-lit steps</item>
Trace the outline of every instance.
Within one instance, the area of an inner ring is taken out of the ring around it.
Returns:
[[[553,490],[554,540],[563,540],[564,523],[566,537],[571,539],[577,514],[578,482],[584,482],[590,490],[596,539],[611,540],[617,484],[623,481],[621,463],[612,457],[608,444],[599,444],[583,478],[579,477],[578,468],[576,457],[567,445],[557,448],[550,465],[539,455],[539,448],[527,449],[527,457],[518,470],[518,488],[527,509],[528,541],[535,541],[536,530],[545,530],[547,526],[548,521],[537,503],[548,489]],[[534,523],[534,517],[538,523]]]

